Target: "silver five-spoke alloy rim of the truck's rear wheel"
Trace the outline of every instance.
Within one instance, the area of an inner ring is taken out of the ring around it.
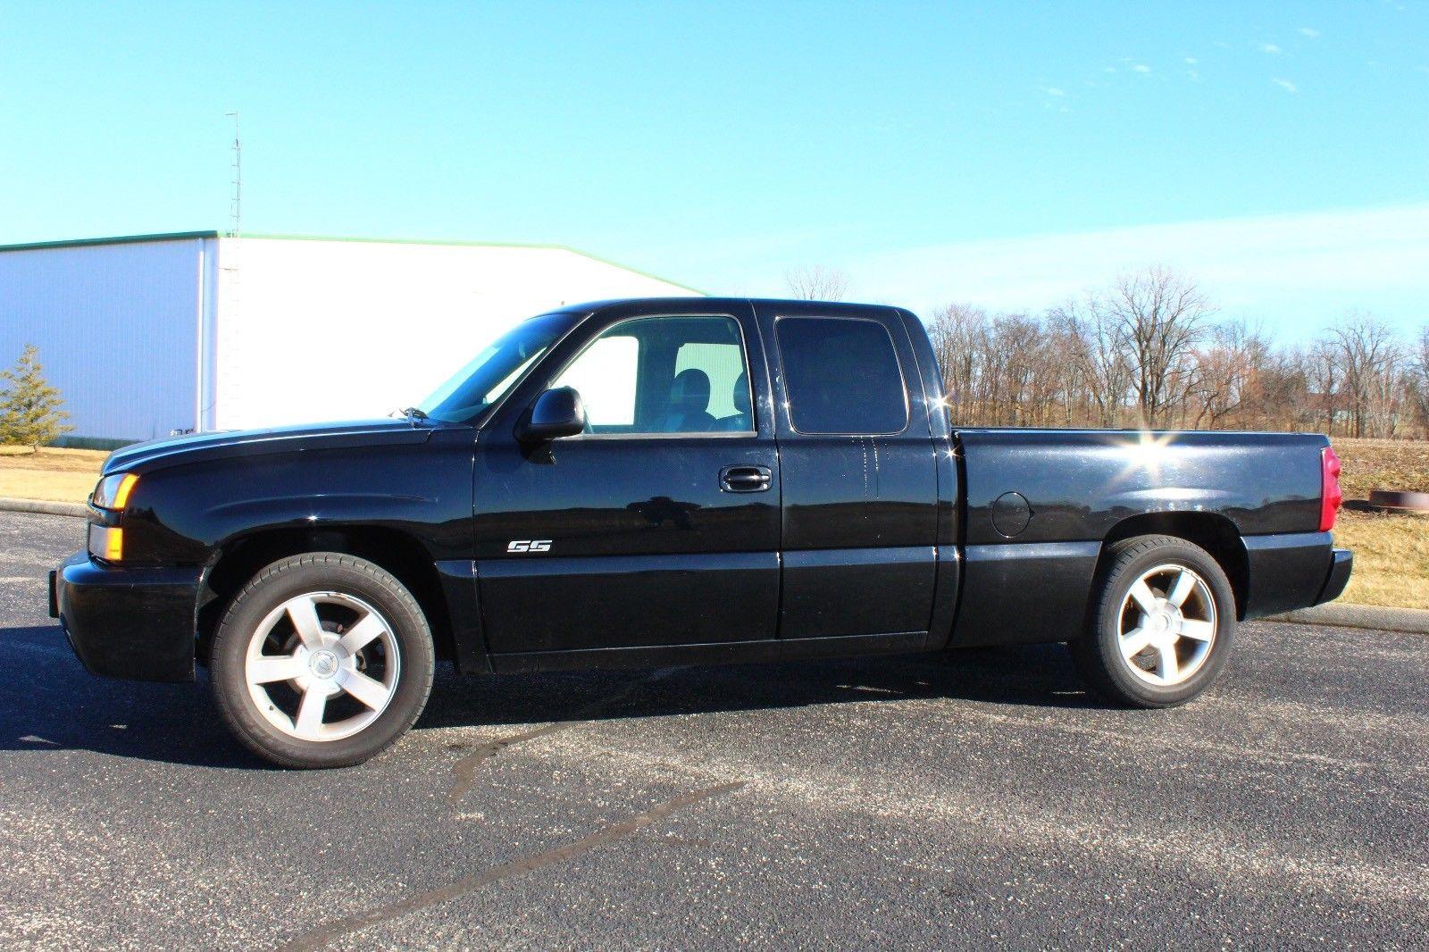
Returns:
[[[1200,670],[1216,642],[1216,599],[1183,565],[1159,565],[1132,583],[1117,633],[1122,658],[1149,685],[1169,688]]]

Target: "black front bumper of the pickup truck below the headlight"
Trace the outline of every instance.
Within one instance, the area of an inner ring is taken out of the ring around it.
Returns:
[[[80,552],[50,573],[50,616],[93,675],[193,680],[199,567],[117,567]]]

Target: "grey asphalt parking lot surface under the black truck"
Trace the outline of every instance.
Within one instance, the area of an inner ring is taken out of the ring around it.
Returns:
[[[1422,946],[1429,639],[1250,625],[1169,712],[1060,648],[463,679],[362,768],[89,676],[0,513],[6,948]]]

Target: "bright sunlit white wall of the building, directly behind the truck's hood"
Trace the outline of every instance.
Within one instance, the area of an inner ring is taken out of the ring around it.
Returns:
[[[694,292],[564,249],[220,239],[206,427],[384,416],[516,322]]]

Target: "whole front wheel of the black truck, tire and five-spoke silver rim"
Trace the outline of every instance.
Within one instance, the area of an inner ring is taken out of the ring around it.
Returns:
[[[233,735],[286,768],[362,763],[416,722],[432,632],[389,572],[310,552],[259,572],[213,638],[214,700]]]

